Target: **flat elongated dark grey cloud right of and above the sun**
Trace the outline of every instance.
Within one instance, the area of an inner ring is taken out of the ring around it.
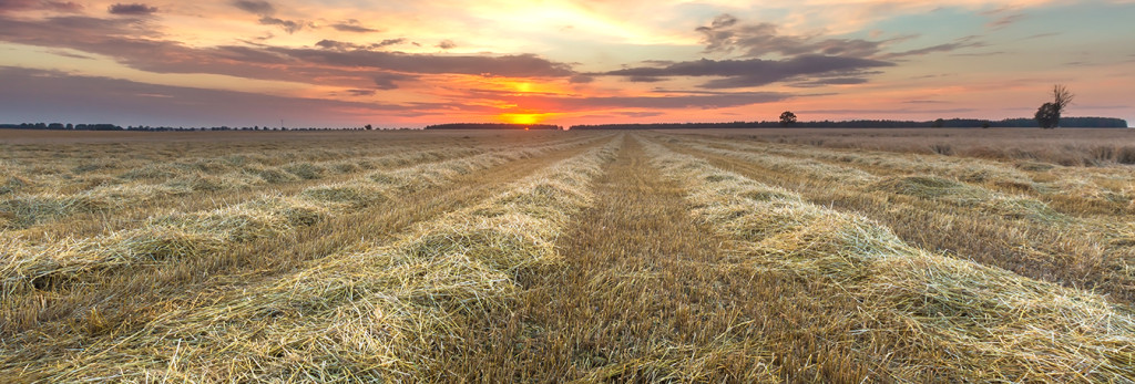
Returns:
[[[704,84],[705,88],[740,88],[767,85],[783,80],[805,80],[809,77],[841,77],[863,75],[864,69],[889,67],[893,63],[878,60],[801,56],[785,60],[708,60],[686,61],[662,68],[639,67],[613,70],[604,75],[627,77],[723,77]]]

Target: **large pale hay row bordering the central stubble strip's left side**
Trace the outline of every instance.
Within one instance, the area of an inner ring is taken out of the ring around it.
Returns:
[[[429,381],[429,351],[462,342],[456,317],[506,308],[518,273],[556,263],[555,238],[588,204],[590,180],[619,144],[562,161],[388,245],[179,307],[141,332],[56,340],[84,345],[60,353],[8,351],[0,374],[68,382]]]

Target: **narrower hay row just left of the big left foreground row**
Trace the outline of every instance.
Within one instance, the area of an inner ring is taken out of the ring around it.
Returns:
[[[394,172],[414,190],[448,185],[461,174],[486,170],[510,161],[529,159],[549,151],[578,145],[561,143],[536,148],[487,153],[431,164],[419,164]],[[236,205],[209,211],[157,214],[138,229],[84,239],[67,239],[47,245],[11,240],[0,253],[0,291],[6,295],[56,282],[77,280],[79,274],[136,263],[195,257],[221,251],[236,242],[269,238],[295,231],[355,210],[385,202],[403,184],[372,181],[368,178],[310,187],[296,196],[262,196]],[[108,198],[127,204],[125,198]],[[84,210],[110,210],[83,206]]]

